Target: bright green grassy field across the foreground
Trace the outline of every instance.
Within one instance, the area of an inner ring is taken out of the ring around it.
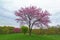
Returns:
[[[60,40],[60,35],[0,34],[0,40]]]

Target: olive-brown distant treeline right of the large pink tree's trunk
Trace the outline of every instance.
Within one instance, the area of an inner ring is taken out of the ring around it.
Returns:
[[[36,34],[60,34],[60,27],[49,27],[48,29],[33,29]]]

